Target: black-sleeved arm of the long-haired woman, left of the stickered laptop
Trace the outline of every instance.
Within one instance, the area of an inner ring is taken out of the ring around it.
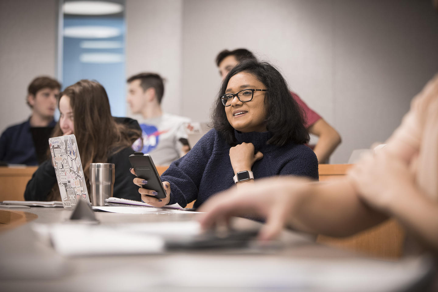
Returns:
[[[26,185],[26,201],[47,201],[47,196],[57,183],[55,168],[51,160],[46,160],[32,175],[32,179]]]

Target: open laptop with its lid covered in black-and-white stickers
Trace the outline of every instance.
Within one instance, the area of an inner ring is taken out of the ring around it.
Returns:
[[[90,204],[77,145],[74,134],[49,138],[61,201],[67,209],[74,208],[78,200],[85,200]]]

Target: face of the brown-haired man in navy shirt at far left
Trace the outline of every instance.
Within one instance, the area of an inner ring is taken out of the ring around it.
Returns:
[[[59,89],[42,88],[35,95],[28,96],[28,102],[32,106],[33,113],[50,119],[53,118],[56,109],[56,98]]]

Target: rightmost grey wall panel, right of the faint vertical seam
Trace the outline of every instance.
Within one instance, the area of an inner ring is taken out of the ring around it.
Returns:
[[[384,141],[410,100],[438,72],[438,14],[431,1],[336,1],[333,161]]]

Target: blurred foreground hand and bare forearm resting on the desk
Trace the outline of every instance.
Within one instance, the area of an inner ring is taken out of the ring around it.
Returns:
[[[212,197],[199,211],[207,212],[201,222],[204,228],[226,222],[230,216],[266,218],[262,239],[274,238],[284,226],[313,234],[349,236],[387,218],[360,201],[348,179],[321,184],[284,176],[227,190]]]

